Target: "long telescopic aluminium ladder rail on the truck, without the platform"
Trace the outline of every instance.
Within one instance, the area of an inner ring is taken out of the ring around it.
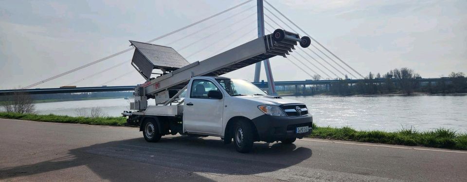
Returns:
[[[277,29],[273,34],[258,37],[203,61],[196,61],[165,73],[139,85],[139,87],[144,88],[144,94],[142,95],[151,95],[168,89],[180,90],[195,76],[218,76],[276,55],[285,57],[289,55],[289,52],[292,52],[297,42],[301,41],[303,43],[304,38],[307,37],[304,36],[300,39],[298,34]],[[300,45],[304,47],[302,43]]]

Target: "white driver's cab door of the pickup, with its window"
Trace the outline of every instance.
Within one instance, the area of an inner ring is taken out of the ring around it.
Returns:
[[[193,133],[222,133],[224,97],[212,81],[194,79],[183,108],[183,126]],[[209,97],[211,96],[211,97]]]

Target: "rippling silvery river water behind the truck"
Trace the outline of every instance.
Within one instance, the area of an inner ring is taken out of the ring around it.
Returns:
[[[467,132],[467,95],[415,96],[297,96],[318,126],[353,127],[359,130],[396,131],[401,128],[430,130],[450,128]],[[99,107],[108,116],[120,116],[131,100],[102,99],[36,104],[39,114],[76,116],[76,108],[88,112]]]

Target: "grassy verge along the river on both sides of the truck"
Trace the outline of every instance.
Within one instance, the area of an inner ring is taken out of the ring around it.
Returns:
[[[56,123],[79,123],[88,125],[124,126],[125,117],[71,117],[54,114],[18,114],[0,112],[0,118],[20,119]],[[427,146],[437,148],[449,148],[467,150],[467,133],[457,133],[450,129],[436,129],[432,131],[415,131],[413,129],[401,129],[396,132],[385,131],[358,131],[351,127],[317,127],[313,125],[310,138],[331,140],[346,140],[356,142],[369,142],[405,146]]]

